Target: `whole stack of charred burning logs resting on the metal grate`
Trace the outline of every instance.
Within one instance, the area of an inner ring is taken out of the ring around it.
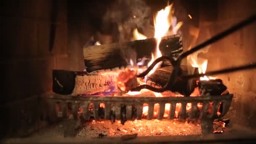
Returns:
[[[116,95],[118,91],[115,77],[130,65],[130,59],[134,57],[127,55],[127,51],[136,53],[138,62],[141,59],[151,59],[155,47],[155,38],[150,38],[83,48],[86,72],[53,70],[53,92],[64,95]],[[183,52],[181,35],[162,37],[159,48],[163,56],[178,57]],[[165,85],[172,68],[168,64],[158,68],[148,77],[147,84],[159,87]],[[181,68],[184,75],[188,74],[187,66]],[[187,84],[187,80],[181,80],[176,84],[176,89],[187,94]]]

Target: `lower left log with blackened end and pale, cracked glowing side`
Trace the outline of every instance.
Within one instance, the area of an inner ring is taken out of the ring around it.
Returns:
[[[116,91],[115,71],[93,73],[53,70],[53,92],[59,94],[94,94]]]

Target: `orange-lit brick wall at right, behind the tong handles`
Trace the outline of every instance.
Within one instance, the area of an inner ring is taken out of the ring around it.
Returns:
[[[211,0],[209,3],[200,5],[200,42],[256,13],[255,0]],[[210,35],[205,35],[207,30]],[[208,53],[201,55],[208,59],[207,70],[256,62],[255,37],[256,23],[211,45]],[[224,81],[230,93],[234,93],[229,111],[232,122],[255,127],[256,69],[218,77]]]

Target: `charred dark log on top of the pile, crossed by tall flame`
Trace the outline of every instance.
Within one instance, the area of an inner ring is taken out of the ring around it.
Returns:
[[[129,64],[127,60],[131,59],[130,55],[136,55],[137,61],[143,58],[151,59],[151,53],[155,53],[155,47],[155,38],[86,47],[83,48],[85,67],[88,72],[126,67]],[[159,48],[163,56],[178,57],[183,52],[181,35],[162,37]],[[135,54],[127,54],[130,51]]]

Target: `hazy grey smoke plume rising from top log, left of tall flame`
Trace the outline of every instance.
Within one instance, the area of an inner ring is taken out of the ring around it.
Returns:
[[[103,17],[103,24],[115,27],[112,36],[120,44],[120,53],[128,65],[131,65],[131,61],[133,64],[137,63],[136,52],[122,43],[133,38],[134,29],[142,28],[148,23],[149,12],[150,8],[144,0],[116,0]]]

